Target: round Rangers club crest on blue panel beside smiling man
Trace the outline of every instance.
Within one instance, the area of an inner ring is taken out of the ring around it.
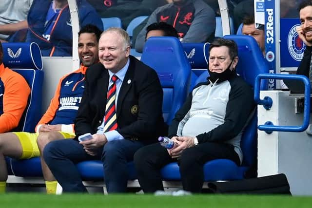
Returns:
[[[303,57],[303,52],[306,49],[306,45],[299,38],[299,35],[296,31],[296,27],[300,26],[300,24],[296,24],[292,26],[292,29],[288,34],[288,51],[293,59],[296,61],[301,61]]]

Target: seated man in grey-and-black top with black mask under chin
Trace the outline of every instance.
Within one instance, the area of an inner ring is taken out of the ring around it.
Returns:
[[[178,110],[168,136],[176,143],[166,150],[159,143],[135,154],[138,181],[143,191],[163,190],[160,169],[176,161],[183,189],[200,192],[203,165],[214,159],[230,159],[240,165],[240,140],[254,110],[251,86],[237,76],[237,45],[233,40],[216,39],[210,45],[207,82],[199,83]]]

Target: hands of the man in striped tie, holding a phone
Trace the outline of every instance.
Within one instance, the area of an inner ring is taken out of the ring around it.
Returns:
[[[107,138],[104,134],[96,133],[92,135],[92,139],[79,142],[79,144],[83,146],[83,149],[87,152],[87,154],[95,156],[98,153],[98,148],[104,146],[106,142]]]

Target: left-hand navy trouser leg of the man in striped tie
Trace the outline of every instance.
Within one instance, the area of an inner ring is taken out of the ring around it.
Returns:
[[[86,192],[76,163],[94,160],[78,141],[62,139],[48,143],[43,150],[43,158],[52,174],[63,188],[63,192]]]

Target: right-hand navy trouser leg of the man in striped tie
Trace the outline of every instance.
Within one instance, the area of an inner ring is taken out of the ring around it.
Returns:
[[[141,147],[143,147],[141,142],[128,139],[110,141],[105,144],[101,158],[105,184],[109,193],[126,191],[127,162],[133,161],[133,155]]]

